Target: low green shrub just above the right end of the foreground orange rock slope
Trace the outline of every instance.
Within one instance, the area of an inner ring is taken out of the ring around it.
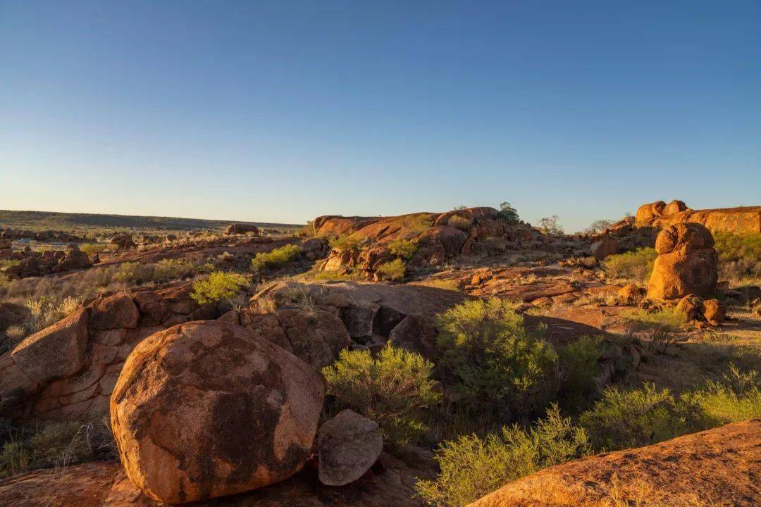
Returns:
[[[651,445],[686,431],[668,389],[659,391],[652,384],[632,391],[607,387],[579,423],[600,451]]]

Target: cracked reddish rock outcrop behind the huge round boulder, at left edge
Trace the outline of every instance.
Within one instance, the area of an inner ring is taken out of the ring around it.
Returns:
[[[191,319],[218,316],[190,298],[192,284],[100,296],[0,356],[4,413],[86,420],[108,413],[124,360],[145,337]]]

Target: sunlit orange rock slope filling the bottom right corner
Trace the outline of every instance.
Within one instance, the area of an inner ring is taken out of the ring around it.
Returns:
[[[729,424],[626,451],[546,468],[471,507],[733,505],[761,498],[761,420]]]

